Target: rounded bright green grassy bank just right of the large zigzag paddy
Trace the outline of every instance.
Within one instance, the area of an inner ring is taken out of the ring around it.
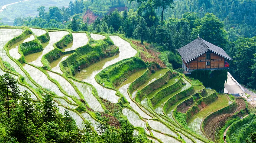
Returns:
[[[104,83],[107,87],[119,86],[129,75],[145,68],[145,63],[138,57],[132,57],[117,62],[99,72],[95,79],[98,83]]]

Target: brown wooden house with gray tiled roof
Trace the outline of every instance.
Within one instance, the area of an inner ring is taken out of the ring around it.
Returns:
[[[226,60],[232,60],[221,47],[200,37],[178,49],[178,52],[183,60],[185,74],[190,74],[193,70],[229,69]]]

